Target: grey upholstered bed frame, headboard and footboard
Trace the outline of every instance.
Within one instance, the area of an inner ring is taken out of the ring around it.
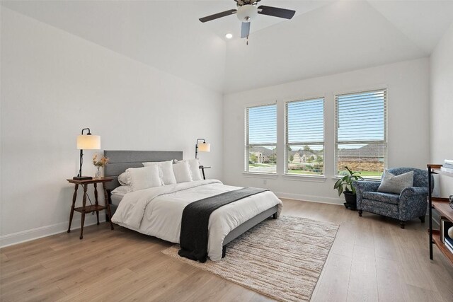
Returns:
[[[117,177],[121,173],[125,172],[127,168],[139,168],[143,167],[142,163],[149,161],[171,161],[173,159],[182,160],[183,151],[118,151],[118,150],[105,150],[104,156],[109,158],[108,165],[105,165],[104,174],[105,177],[114,177],[111,182],[106,182],[105,186],[108,192],[108,202],[110,203],[110,209],[112,215],[115,214],[117,206],[112,204],[110,199],[111,192],[115,187],[120,186]],[[273,219],[277,219],[278,205],[261,212],[260,214],[248,219],[248,221],[237,226],[224,238],[224,248],[222,257],[225,255],[225,245],[230,243],[235,238],[241,236],[249,229],[256,226],[258,223],[273,216]],[[108,217],[110,219],[110,217]]]

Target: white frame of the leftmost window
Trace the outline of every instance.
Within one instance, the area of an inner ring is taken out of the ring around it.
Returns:
[[[268,107],[268,106],[275,106],[275,143],[265,143],[265,144],[250,144],[249,140],[249,132],[248,132],[248,110],[250,108],[259,108],[259,107]],[[258,175],[277,175],[277,168],[278,168],[278,161],[277,158],[275,158],[275,172],[256,172],[256,171],[250,171],[249,170],[249,161],[250,161],[250,152],[249,149],[254,146],[274,146],[277,148],[277,141],[278,141],[278,106],[277,102],[275,103],[266,103],[266,104],[260,104],[260,105],[250,105],[244,108],[244,130],[245,130],[245,146],[244,146],[244,170],[243,173],[247,174],[258,174]]]

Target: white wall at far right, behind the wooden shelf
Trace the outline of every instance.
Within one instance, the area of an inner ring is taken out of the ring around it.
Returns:
[[[431,162],[453,159],[453,24],[431,55]],[[440,177],[440,194],[453,194],[453,178]]]

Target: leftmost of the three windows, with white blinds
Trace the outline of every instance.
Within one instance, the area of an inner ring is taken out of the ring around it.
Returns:
[[[277,105],[246,109],[246,172],[277,173]]]

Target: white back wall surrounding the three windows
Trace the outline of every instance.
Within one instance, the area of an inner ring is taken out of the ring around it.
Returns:
[[[250,80],[250,81],[253,81]],[[268,187],[280,197],[343,203],[333,190],[334,95],[388,89],[388,166],[425,168],[429,150],[429,60],[417,59],[369,69],[323,76],[241,93],[224,95],[224,182]],[[283,176],[284,154],[277,154],[277,177],[263,179],[243,173],[244,108],[277,101],[277,150],[284,149],[285,101],[325,97],[326,179]]]

